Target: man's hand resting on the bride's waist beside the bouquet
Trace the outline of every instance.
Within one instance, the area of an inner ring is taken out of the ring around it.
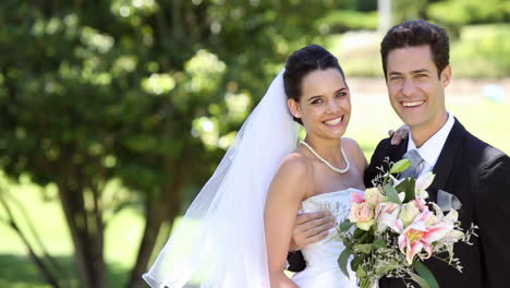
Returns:
[[[292,232],[289,251],[301,250],[311,243],[324,239],[328,236],[329,229],[335,226],[337,226],[337,224],[329,212],[299,214],[294,231]]]

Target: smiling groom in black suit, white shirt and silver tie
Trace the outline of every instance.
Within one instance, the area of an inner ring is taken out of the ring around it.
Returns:
[[[382,140],[365,170],[365,184],[378,173],[385,157],[397,161],[410,149],[424,160],[418,175],[436,175],[428,189],[429,201],[456,199],[462,204],[459,220],[464,229],[477,225],[473,245],[458,243],[457,272],[436,259],[425,261],[440,287],[508,287],[510,284],[510,158],[478,140],[445,106],[445,88],[451,80],[449,39],[445,29],[425,21],[409,21],[392,27],[380,45],[382,69],[391,106],[410,128],[410,137],[399,145]],[[484,117],[479,111],[477,117]],[[439,199],[438,199],[439,195]],[[447,209],[448,201],[438,203]],[[305,215],[298,219],[309,225]],[[319,221],[317,219],[315,223]],[[293,241],[305,243],[298,225]],[[320,229],[318,229],[320,230]],[[298,245],[299,248],[299,245]],[[294,255],[294,257],[296,257]],[[292,267],[300,261],[289,259]],[[381,288],[405,287],[402,279],[384,278]]]

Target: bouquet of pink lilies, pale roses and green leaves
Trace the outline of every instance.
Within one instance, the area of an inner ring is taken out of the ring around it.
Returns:
[[[338,259],[340,269],[349,277],[352,259],[351,269],[361,288],[372,288],[384,276],[412,279],[423,288],[439,287],[422,262],[435,256],[462,272],[453,244],[470,243],[476,226],[463,231],[456,209],[444,215],[437,204],[427,203],[426,189],[435,177],[432,172],[398,180],[393,175],[411,163],[386,161],[390,169],[374,180],[374,188],[352,193],[349,217],[338,227],[345,245]]]

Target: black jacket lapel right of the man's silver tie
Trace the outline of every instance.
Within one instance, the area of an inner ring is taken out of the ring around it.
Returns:
[[[453,127],[451,128],[450,134],[448,135],[445,146],[442,146],[439,158],[434,166],[433,172],[436,175],[434,182],[427,189],[430,194],[430,200],[437,201],[437,190],[445,189],[448,179],[450,178],[451,171],[453,170],[453,164],[464,140],[465,128],[456,119]]]

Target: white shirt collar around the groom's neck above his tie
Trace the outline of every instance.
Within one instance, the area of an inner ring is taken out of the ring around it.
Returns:
[[[453,127],[453,116],[448,112],[448,119],[446,123],[437,131],[432,137],[429,137],[420,148],[416,148],[411,131],[409,131],[408,151],[416,149],[422,158],[434,167],[441,154],[442,146],[445,146],[448,134],[450,134],[451,128]]]

